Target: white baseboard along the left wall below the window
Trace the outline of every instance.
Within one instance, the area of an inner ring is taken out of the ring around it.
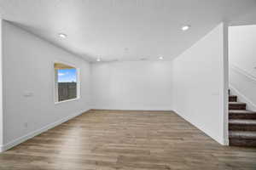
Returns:
[[[88,109],[86,111],[89,111],[89,110],[90,109]],[[63,122],[67,122],[70,119],[72,119],[72,118],[74,118],[76,116],[79,116],[79,115],[83,114],[86,111],[80,111],[80,112],[77,112],[77,113],[75,113],[73,115],[64,117],[64,118],[62,118],[59,121],[50,123],[49,125],[46,125],[45,127],[42,127],[42,128],[40,128],[38,130],[35,130],[35,131],[31,132],[31,133],[27,133],[26,135],[21,136],[20,138],[14,139],[13,141],[9,142],[8,144],[0,145],[0,152],[3,152],[5,150],[9,150],[10,148],[14,147],[15,145],[20,144],[22,142],[25,142],[27,139],[32,139],[33,137],[37,136],[38,134],[44,133],[45,131],[49,130],[50,128],[56,127],[56,126],[60,125]]]

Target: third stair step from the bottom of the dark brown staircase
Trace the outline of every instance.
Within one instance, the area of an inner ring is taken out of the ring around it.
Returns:
[[[256,120],[256,112],[255,111],[247,111],[247,110],[230,110],[229,111],[230,119],[252,119]]]

